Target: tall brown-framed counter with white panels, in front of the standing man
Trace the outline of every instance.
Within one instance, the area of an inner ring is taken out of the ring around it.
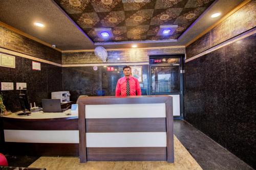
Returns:
[[[171,96],[79,98],[78,107],[80,162],[174,162]]]

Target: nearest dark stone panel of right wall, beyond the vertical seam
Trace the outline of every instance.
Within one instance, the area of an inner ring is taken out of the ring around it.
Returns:
[[[255,168],[256,34],[225,46],[227,80],[227,149]],[[253,160],[254,159],[254,160]]]

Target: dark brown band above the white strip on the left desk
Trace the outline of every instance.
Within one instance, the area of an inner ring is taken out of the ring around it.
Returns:
[[[24,121],[24,119],[3,119],[5,130],[78,130],[78,119],[41,119]]]

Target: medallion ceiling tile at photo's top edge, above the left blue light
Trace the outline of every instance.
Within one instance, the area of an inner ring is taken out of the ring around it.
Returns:
[[[121,0],[92,0],[91,4],[96,12],[122,11]]]

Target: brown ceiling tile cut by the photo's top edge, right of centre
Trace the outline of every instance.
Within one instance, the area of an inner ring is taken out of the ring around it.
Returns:
[[[183,8],[188,0],[157,0],[156,9]]]

